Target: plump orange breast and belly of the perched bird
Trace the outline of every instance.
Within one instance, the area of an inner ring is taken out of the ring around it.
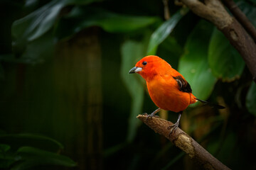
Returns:
[[[193,94],[178,90],[178,84],[172,77],[156,77],[146,82],[152,101],[166,111],[184,111],[195,103]]]

